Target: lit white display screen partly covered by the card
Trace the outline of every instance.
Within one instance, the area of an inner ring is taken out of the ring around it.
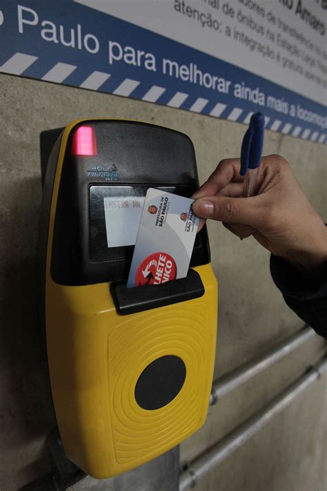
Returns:
[[[144,196],[103,198],[108,247],[135,244],[144,200]]]

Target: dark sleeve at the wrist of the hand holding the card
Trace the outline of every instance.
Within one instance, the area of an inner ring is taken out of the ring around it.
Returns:
[[[270,256],[270,273],[288,307],[327,339],[327,275],[306,276],[289,262]]]

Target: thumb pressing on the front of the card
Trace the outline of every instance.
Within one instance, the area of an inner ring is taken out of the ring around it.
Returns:
[[[251,198],[227,198],[226,196],[208,196],[195,200],[192,210],[201,218],[212,218],[219,222],[235,222],[250,225],[258,229],[263,212],[260,195]]]

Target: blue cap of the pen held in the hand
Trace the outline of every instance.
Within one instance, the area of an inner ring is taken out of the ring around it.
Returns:
[[[262,147],[264,146],[264,115],[255,113],[244,135],[241,146],[241,170],[244,177],[248,169],[257,169],[260,165]]]

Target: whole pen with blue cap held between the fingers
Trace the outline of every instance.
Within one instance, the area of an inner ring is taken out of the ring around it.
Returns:
[[[255,180],[261,162],[262,147],[264,146],[264,115],[255,113],[251,116],[250,124],[244,135],[241,146],[241,171],[244,177],[243,198],[255,194]]]

